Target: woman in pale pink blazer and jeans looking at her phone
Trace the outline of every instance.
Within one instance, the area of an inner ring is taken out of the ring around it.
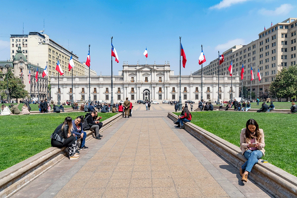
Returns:
[[[257,164],[258,159],[264,156],[265,141],[263,129],[259,129],[258,123],[254,119],[249,119],[246,128],[241,129],[240,149],[247,161],[239,168],[241,181],[247,182],[247,175],[252,167]]]

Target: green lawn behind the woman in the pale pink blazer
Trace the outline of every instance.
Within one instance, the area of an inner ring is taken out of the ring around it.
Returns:
[[[263,159],[297,176],[297,114],[233,111],[203,111],[191,114],[192,123],[238,147],[241,129],[245,128],[250,118],[255,119],[265,135],[266,152]]]

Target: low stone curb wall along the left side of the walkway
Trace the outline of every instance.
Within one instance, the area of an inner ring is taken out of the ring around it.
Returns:
[[[100,131],[107,129],[113,123],[122,118],[122,114],[118,113],[104,121]],[[93,132],[86,131],[86,141],[93,138]],[[80,145],[80,141],[78,141]],[[50,147],[36,155],[21,161],[12,167],[0,172],[0,197],[10,197],[18,190],[26,186],[32,180],[37,178],[39,175],[53,167],[62,159],[66,158],[67,152],[64,148]]]

